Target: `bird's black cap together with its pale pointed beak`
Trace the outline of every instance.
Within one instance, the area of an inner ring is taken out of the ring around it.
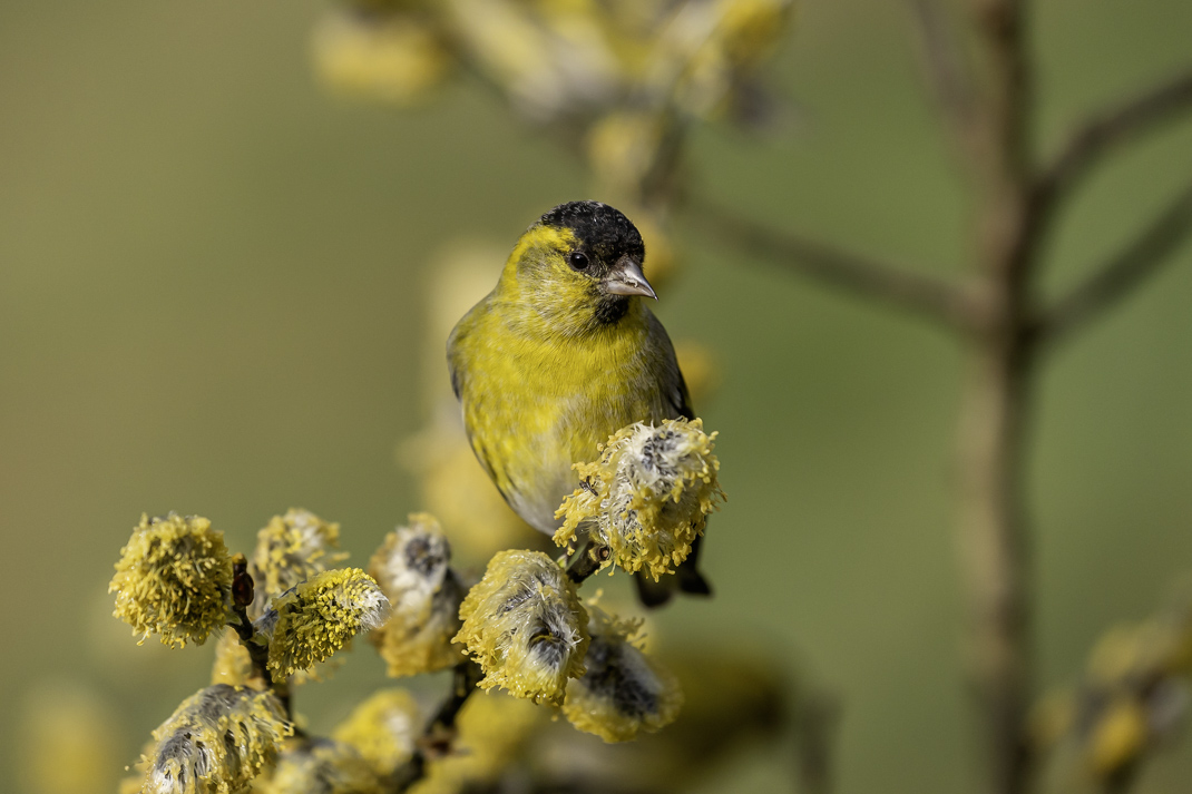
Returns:
[[[544,215],[539,223],[567,229],[576,236],[579,247],[569,255],[569,265],[597,279],[603,292],[658,298],[641,273],[646,258],[641,232],[620,210],[600,201],[567,201]]]

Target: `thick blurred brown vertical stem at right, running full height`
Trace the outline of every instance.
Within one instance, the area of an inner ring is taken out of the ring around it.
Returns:
[[[980,191],[979,294],[961,405],[958,550],[968,602],[968,672],[988,794],[1025,790],[1031,691],[1023,447],[1033,347],[1023,323],[1042,228],[1031,213],[1030,62],[1020,0],[974,0],[988,80],[969,145]]]

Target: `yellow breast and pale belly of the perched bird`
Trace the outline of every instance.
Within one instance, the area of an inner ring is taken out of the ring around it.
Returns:
[[[555,529],[554,510],[578,484],[571,466],[595,459],[598,443],[677,415],[673,353],[656,328],[635,306],[598,333],[555,335],[511,323],[495,298],[460,322],[449,358],[472,448],[532,526]]]

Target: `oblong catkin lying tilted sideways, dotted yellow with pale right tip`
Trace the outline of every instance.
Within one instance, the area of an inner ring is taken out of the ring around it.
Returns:
[[[269,670],[291,676],[323,662],[389,616],[389,598],[358,567],[316,573],[273,601],[254,622],[269,638]]]

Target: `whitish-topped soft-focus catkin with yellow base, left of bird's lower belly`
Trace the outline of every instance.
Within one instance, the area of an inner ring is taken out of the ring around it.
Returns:
[[[451,545],[428,513],[385,535],[368,572],[389,597],[389,621],[371,634],[392,677],[434,672],[464,656],[452,637],[460,628],[464,587],[451,569]]]

